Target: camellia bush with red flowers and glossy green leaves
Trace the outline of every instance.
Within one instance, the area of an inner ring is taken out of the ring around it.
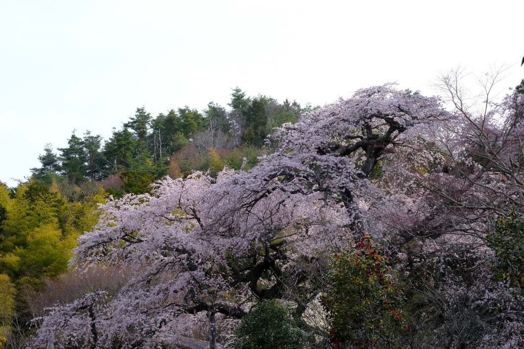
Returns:
[[[388,258],[367,234],[332,258],[329,288],[322,298],[331,322],[328,342],[335,348],[395,347],[398,333],[409,327],[399,310],[401,292],[386,265]]]

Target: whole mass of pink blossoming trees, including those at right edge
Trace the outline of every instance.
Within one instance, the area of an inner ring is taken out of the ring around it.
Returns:
[[[490,279],[485,242],[497,215],[524,207],[522,105],[514,94],[476,118],[392,84],[361,89],[277,129],[250,171],[167,177],[108,200],[71,267],[132,277],[50,309],[33,347],[155,347],[194,335],[207,312],[221,314],[225,340],[268,298],[326,334],[302,316],[319,308],[329,256],[366,233],[419,302],[405,310],[420,324],[406,343],[438,347],[440,331],[454,347],[458,328],[471,336],[461,343],[518,343],[522,306]]]

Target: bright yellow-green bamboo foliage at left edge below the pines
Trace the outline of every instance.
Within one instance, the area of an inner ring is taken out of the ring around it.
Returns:
[[[6,208],[0,221],[0,273],[14,280],[63,273],[78,236],[98,220],[94,211],[104,201],[103,189],[69,201],[55,182],[47,186],[30,179],[18,185],[14,198],[5,192],[0,186]]]

